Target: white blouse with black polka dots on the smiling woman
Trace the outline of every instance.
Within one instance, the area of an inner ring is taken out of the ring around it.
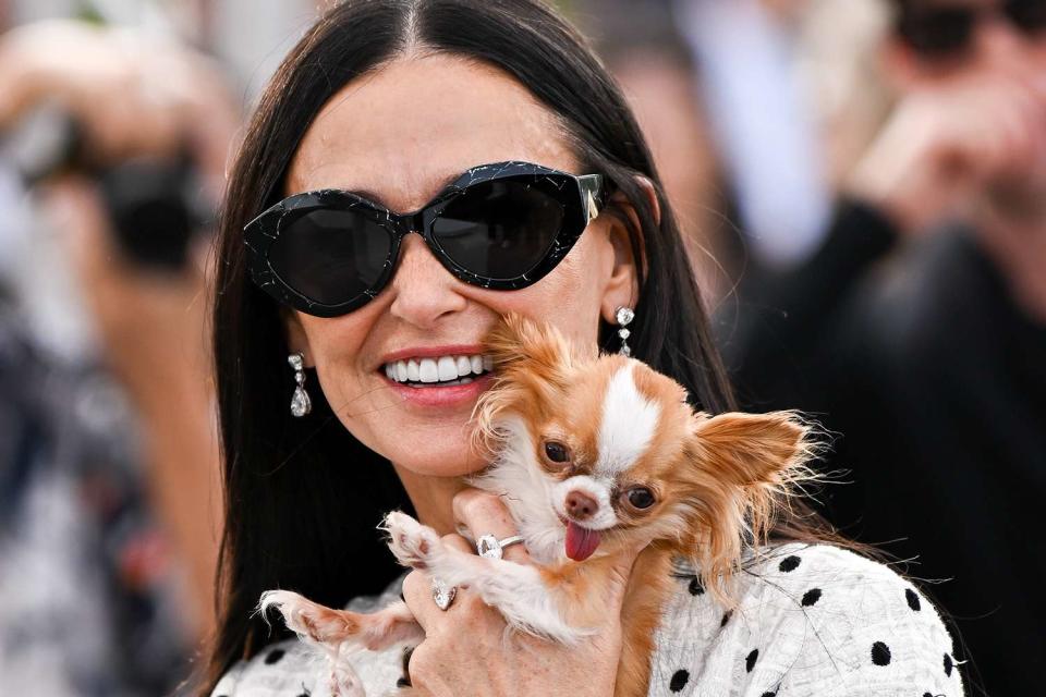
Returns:
[[[678,574],[665,608],[652,697],[960,697],[952,640],[934,607],[889,567],[827,545],[783,545],[737,577],[726,611]],[[399,596],[357,599],[366,612]],[[222,677],[215,697],[328,697],[325,659],[283,641]],[[353,661],[367,692],[402,677],[391,651]]]

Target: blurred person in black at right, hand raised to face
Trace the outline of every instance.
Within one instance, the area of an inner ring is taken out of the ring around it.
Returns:
[[[750,407],[840,432],[829,517],[947,579],[976,687],[1046,651],[1046,1],[898,0],[898,99],[822,247],[720,317]],[[942,659],[948,665],[948,660]],[[978,680],[980,675],[980,680]]]

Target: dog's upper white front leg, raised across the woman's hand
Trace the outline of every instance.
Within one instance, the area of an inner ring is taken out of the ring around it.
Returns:
[[[563,644],[591,634],[568,624],[564,609],[537,567],[462,552],[403,513],[390,513],[384,528],[390,536],[389,548],[402,564],[425,570],[447,585],[470,589],[497,608],[511,626]]]

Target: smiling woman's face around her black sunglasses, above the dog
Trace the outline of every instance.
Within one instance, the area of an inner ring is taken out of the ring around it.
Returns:
[[[287,194],[366,192],[408,212],[465,170],[504,160],[585,173],[552,113],[510,76],[462,58],[413,57],[355,80],[323,108],[291,163]],[[508,311],[595,345],[600,317],[612,321],[634,295],[627,234],[601,215],[551,273],[519,291],[467,285],[419,235],[408,235],[394,277],[374,301],[337,318],[295,313],[288,329],[292,350],[316,366],[327,401],[356,438],[401,468],[454,476],[485,465],[470,447],[470,418],[488,380],[414,388],[389,380],[385,365],[478,355],[487,329]]]

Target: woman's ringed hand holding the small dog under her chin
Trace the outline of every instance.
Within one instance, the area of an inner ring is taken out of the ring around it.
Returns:
[[[466,489],[453,500],[454,517],[473,538],[516,534],[498,497]],[[460,535],[448,545],[475,553]],[[635,550],[638,553],[638,550]],[[503,559],[531,564],[522,545],[506,548]],[[412,572],[403,583],[406,603],[425,629],[425,640],[410,660],[410,677],[423,695],[558,695],[608,697],[613,694],[621,657],[621,603],[635,555],[621,559],[603,590],[608,599],[603,624],[592,637],[568,647],[520,633],[507,633],[504,619],[467,588],[445,612],[433,601],[429,578]]]

